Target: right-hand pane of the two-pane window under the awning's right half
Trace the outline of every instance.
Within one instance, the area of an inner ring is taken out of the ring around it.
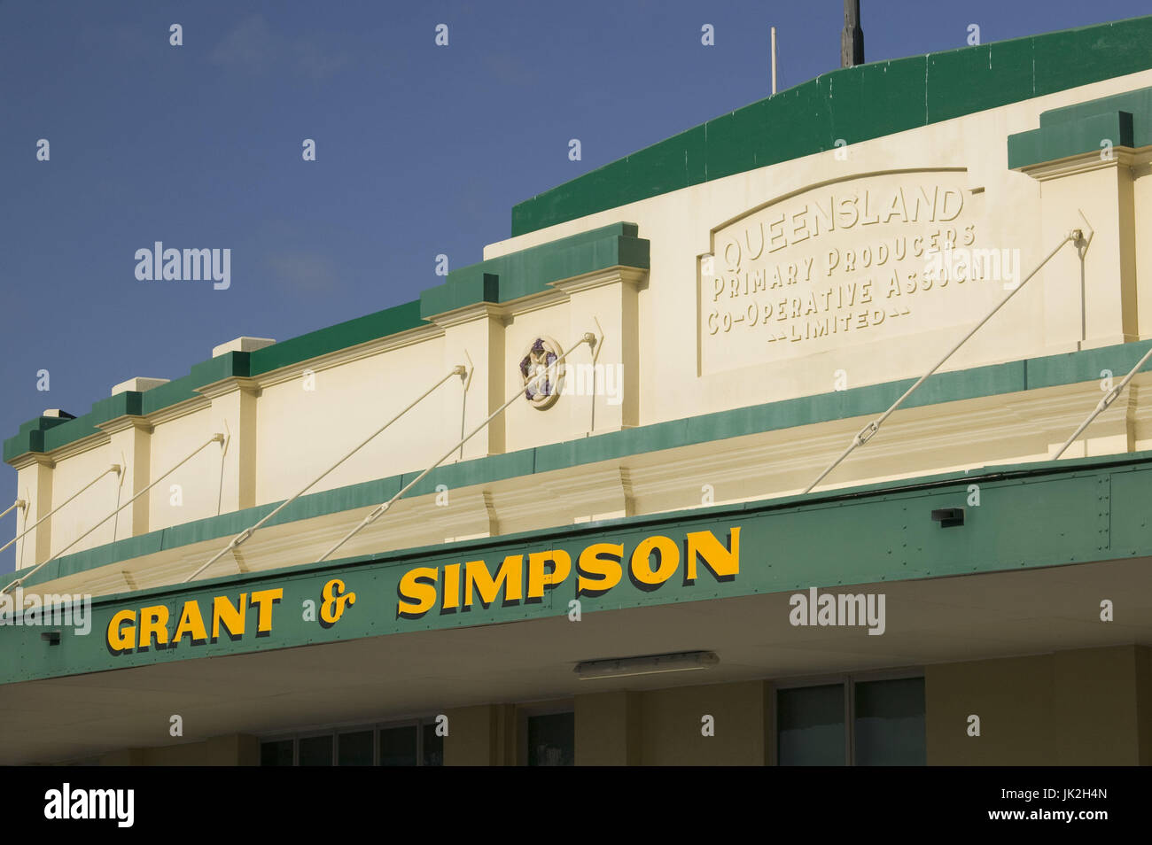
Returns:
[[[856,685],[856,764],[925,766],[924,678]]]

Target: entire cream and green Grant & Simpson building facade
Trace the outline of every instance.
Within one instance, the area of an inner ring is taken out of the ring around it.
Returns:
[[[0,762],[1152,762],[1149,44],[820,76],[25,424]]]

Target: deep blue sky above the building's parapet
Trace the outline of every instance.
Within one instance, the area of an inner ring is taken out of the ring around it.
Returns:
[[[862,6],[869,61],[964,46],[971,23],[987,43],[1152,12]],[[461,267],[508,237],[517,201],[767,96],[771,25],[781,89],[836,68],[841,15],[840,0],[0,0],[0,439],[128,378],[184,375],[233,337],[416,298],[442,281],[437,254]],[[230,249],[230,288],[137,281],[154,241]],[[15,530],[0,520],[0,539]]]

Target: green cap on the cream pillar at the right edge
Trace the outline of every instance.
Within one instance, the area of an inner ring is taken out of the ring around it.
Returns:
[[[1098,153],[1105,138],[1113,146],[1152,145],[1152,87],[1041,112],[1039,129],[1008,136],[1008,167]]]

